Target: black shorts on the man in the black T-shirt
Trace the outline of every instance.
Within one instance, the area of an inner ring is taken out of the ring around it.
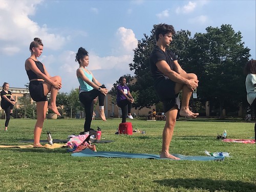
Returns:
[[[155,90],[160,101],[163,102],[164,113],[175,105],[180,109],[179,94],[175,94],[175,82],[169,79],[161,80],[155,85]]]

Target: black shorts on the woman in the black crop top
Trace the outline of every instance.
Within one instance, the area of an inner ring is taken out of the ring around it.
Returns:
[[[31,98],[36,102],[48,101],[47,96],[45,96],[44,94],[44,87],[42,86],[42,81],[30,81],[29,93]]]

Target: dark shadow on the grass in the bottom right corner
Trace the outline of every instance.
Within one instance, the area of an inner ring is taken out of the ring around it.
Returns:
[[[155,180],[154,182],[160,185],[169,187],[184,187],[188,190],[190,189],[203,189],[210,192],[214,191],[232,191],[232,192],[255,192],[256,186],[253,183],[243,182],[243,181],[230,181],[230,180],[211,180],[211,179],[190,179],[190,178],[180,178],[180,179],[163,179]]]

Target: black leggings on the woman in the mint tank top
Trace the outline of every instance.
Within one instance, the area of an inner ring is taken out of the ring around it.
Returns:
[[[105,88],[105,86],[100,86]],[[98,90],[91,90],[89,92],[81,92],[79,94],[79,100],[84,105],[84,112],[86,113],[86,121],[84,122],[84,132],[89,132],[91,128],[91,122],[93,117],[93,99],[98,97],[99,106],[104,106],[105,95]]]

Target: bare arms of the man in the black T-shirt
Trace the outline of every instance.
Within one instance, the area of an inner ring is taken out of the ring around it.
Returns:
[[[178,63],[178,61],[177,61],[177,63]],[[175,64],[176,67],[177,67],[177,63]],[[182,83],[182,84],[186,84],[186,86],[191,90],[194,90],[193,89],[194,87],[198,87],[198,80],[186,79],[186,78],[182,77],[176,71],[170,69],[168,63],[165,60],[158,61],[156,63],[156,66],[157,66],[159,71],[161,71],[165,76],[167,76],[172,81]],[[180,72],[184,71],[184,70],[181,69],[181,67],[178,68],[177,70],[179,70]]]

